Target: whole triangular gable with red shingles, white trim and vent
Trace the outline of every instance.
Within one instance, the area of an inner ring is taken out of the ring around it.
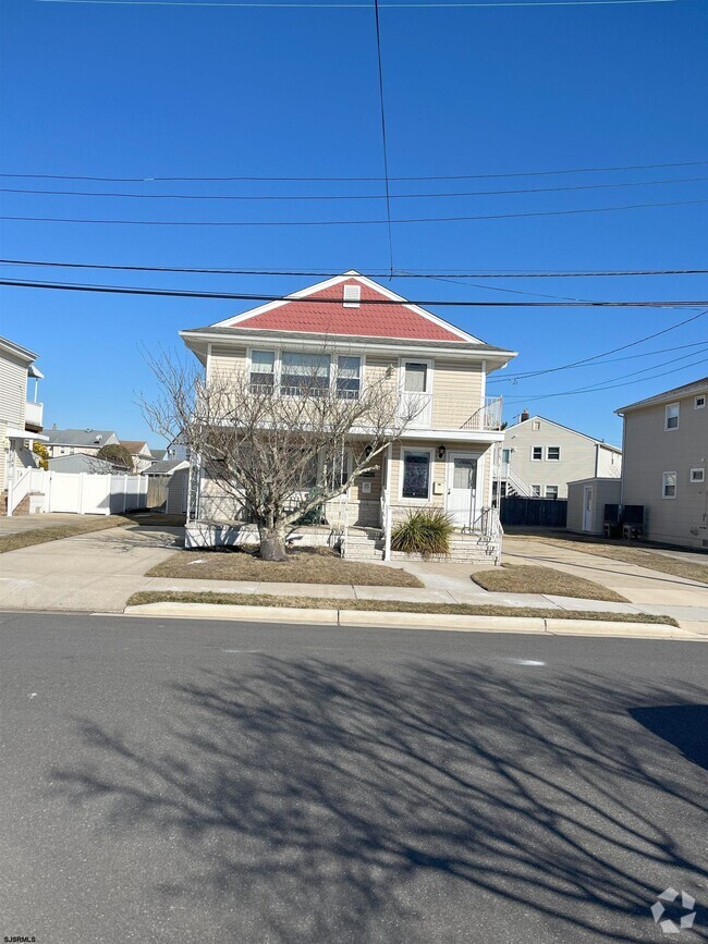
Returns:
[[[353,286],[361,291],[359,301],[354,304]],[[367,302],[387,304],[367,305]],[[244,311],[213,327],[300,331],[325,336],[481,343],[462,329],[356,272],[312,285],[282,301]]]

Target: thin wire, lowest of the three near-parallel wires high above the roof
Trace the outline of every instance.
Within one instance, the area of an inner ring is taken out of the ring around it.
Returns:
[[[708,198],[699,200],[671,200],[659,204],[627,204],[621,207],[591,207],[576,210],[535,210],[523,213],[486,213],[474,217],[416,217],[391,220],[391,223],[460,223],[475,220],[510,220],[529,217],[570,217],[583,213],[608,213],[619,210],[642,210],[654,207],[687,207],[708,204]],[[30,223],[91,223],[117,226],[378,226],[387,225],[388,220],[88,220],[75,217],[14,217],[3,216],[0,220]]]

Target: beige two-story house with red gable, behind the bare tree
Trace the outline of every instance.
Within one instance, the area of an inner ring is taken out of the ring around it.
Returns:
[[[331,383],[335,370],[345,377],[346,396],[390,378],[402,402],[415,397],[420,407],[378,468],[349,483],[346,527],[390,530],[407,510],[435,506],[461,530],[479,528],[491,506],[493,445],[504,436],[501,399],[486,395],[487,376],[515,352],[492,347],[354,271],[180,333],[207,382],[234,373],[285,389],[313,352],[322,382]],[[237,523],[237,506],[196,470],[196,459],[190,517]],[[224,540],[227,532],[212,529],[208,540]]]

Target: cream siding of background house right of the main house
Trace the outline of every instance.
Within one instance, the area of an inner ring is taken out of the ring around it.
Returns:
[[[535,430],[534,421],[540,422]],[[541,446],[542,458],[532,459],[533,446]],[[560,461],[549,459],[548,446],[560,446]],[[581,433],[547,419],[532,419],[506,429],[503,449],[513,450],[509,462],[513,471],[525,482],[539,485],[541,496],[546,486],[558,486],[558,498],[567,498],[567,483],[591,478],[596,474],[598,444]]]

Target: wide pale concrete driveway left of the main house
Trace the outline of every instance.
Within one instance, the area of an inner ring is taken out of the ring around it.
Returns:
[[[0,608],[120,611],[150,583],[143,575],[181,547],[183,534],[135,525],[0,554]]]

